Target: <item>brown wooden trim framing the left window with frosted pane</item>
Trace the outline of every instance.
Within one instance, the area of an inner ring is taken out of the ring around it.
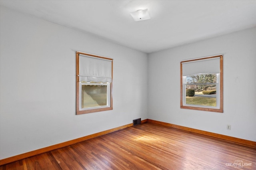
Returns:
[[[112,58],[107,58],[107,57],[102,57],[99,55],[93,55],[93,54],[82,53],[82,52],[76,51],[76,115],[113,110],[112,82],[110,83],[110,107],[101,107],[101,108],[80,110],[79,54],[111,60],[112,61],[111,62],[112,63],[111,77],[112,77],[112,81],[113,81],[113,59]]]

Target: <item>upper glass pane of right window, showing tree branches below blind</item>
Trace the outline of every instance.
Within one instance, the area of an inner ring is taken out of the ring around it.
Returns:
[[[217,83],[217,74],[195,74],[187,76],[187,83]]]

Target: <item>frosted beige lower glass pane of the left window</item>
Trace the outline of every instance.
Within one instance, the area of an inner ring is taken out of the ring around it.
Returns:
[[[82,109],[107,106],[107,85],[82,85]]]

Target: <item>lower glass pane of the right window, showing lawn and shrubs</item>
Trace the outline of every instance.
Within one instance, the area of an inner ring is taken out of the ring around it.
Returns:
[[[191,91],[194,90],[194,95]],[[186,85],[186,105],[216,107],[216,85]]]

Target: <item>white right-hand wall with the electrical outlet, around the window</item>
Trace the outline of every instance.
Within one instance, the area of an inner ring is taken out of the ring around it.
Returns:
[[[180,109],[180,61],[218,54],[224,113]],[[256,141],[256,28],[151,53],[148,62],[148,119]]]

